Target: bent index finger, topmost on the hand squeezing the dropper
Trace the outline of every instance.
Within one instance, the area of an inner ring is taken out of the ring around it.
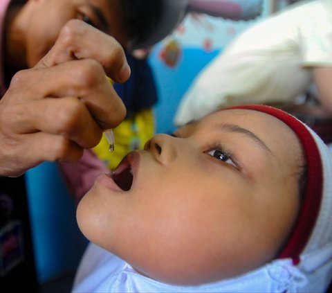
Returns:
[[[130,68],[122,46],[110,35],[78,19],[71,19],[50,51],[35,68],[52,67],[70,60],[93,59],[116,82],[125,82]]]

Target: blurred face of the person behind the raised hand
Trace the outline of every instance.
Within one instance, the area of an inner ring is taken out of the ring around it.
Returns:
[[[30,15],[26,53],[30,67],[48,53],[70,19],[82,19],[124,46],[128,42],[118,0],[30,0],[27,7]]]

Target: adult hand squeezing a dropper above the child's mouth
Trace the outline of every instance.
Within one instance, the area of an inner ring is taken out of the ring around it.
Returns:
[[[76,161],[126,114],[105,76],[129,78],[124,51],[100,30],[71,20],[48,54],[19,71],[0,100],[0,175],[43,161]]]

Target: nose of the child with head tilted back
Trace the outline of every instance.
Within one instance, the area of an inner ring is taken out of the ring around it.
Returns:
[[[176,158],[176,138],[167,134],[157,134],[144,146],[160,163],[166,164]]]

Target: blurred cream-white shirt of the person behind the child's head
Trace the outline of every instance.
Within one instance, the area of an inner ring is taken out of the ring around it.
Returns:
[[[263,19],[225,48],[183,96],[183,125],[219,107],[291,102],[310,87],[313,66],[332,66],[332,1],[299,1]]]

